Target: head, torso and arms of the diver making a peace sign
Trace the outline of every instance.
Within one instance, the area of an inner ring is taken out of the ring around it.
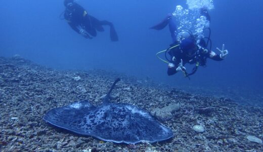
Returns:
[[[172,44],[168,54],[171,59],[169,60],[167,74],[172,75],[178,71],[182,71],[185,77],[192,75],[196,72],[199,65],[206,66],[206,59],[210,58],[215,61],[222,61],[228,55],[228,50],[225,50],[223,44],[222,50],[218,49],[221,54],[216,54],[206,48],[206,43],[202,39],[199,44],[196,44],[194,36],[189,31],[184,30],[178,33],[178,41]],[[184,65],[186,63],[195,64],[191,73],[187,73]]]

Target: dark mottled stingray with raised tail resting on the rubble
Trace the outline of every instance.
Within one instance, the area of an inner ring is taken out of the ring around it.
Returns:
[[[80,135],[116,143],[153,143],[171,138],[172,131],[147,111],[128,103],[109,102],[118,81],[113,83],[102,105],[96,107],[87,100],[74,102],[51,109],[43,120]]]

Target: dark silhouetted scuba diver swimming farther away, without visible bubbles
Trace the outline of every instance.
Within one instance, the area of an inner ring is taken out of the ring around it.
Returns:
[[[118,41],[117,32],[111,22],[100,21],[91,16],[74,0],[64,0],[64,6],[66,7],[64,18],[69,26],[86,39],[93,39],[93,37],[97,36],[97,31],[104,31],[103,26],[108,25],[110,27],[111,41]]]

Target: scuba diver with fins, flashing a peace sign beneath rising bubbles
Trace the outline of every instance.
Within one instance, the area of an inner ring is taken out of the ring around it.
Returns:
[[[207,13],[206,9],[201,9],[200,14],[205,16],[206,19],[210,21],[210,16]],[[169,26],[169,31],[171,33],[171,38],[173,42],[173,44],[171,44],[167,50],[164,50],[165,57],[166,60],[168,60],[168,62],[159,58],[158,56],[157,57],[162,61],[168,63],[168,75],[173,75],[179,71],[182,71],[185,77],[189,78],[189,75],[192,75],[197,71],[199,65],[204,67],[206,66],[207,58],[210,58],[215,61],[221,61],[225,59],[228,55],[228,50],[225,50],[224,44],[222,50],[216,48],[218,51],[221,52],[221,54],[218,55],[211,51],[209,28],[209,36],[204,37],[207,39],[207,42],[204,38],[197,42],[196,36],[193,35],[189,30],[182,30],[180,32],[177,32],[177,26],[171,14],[168,14],[167,17],[161,23],[151,27],[151,29],[161,30],[167,25]],[[209,42],[210,49],[207,48]],[[161,52],[158,52],[156,55],[158,55]],[[167,53],[170,55],[170,59],[168,59]],[[195,64],[191,73],[188,73],[186,71],[186,68],[184,66],[186,63]]]

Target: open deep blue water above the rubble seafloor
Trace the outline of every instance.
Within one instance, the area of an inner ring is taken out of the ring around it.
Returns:
[[[63,1],[9,0],[0,5],[0,56],[20,54],[36,63],[60,69],[100,68],[149,77],[170,86],[219,87],[222,90],[262,92],[263,1],[217,0],[210,11],[212,50],[225,43],[226,60],[208,59],[191,81],[182,73],[168,77],[167,65],[155,54],[171,43],[168,29],[149,27],[186,1],[79,0],[90,15],[114,23],[119,42],[112,43],[109,29],[93,40],[75,33],[59,15]],[[218,52],[217,52],[218,53]],[[188,70],[192,67],[187,66]],[[242,94],[242,93],[241,93]]]

